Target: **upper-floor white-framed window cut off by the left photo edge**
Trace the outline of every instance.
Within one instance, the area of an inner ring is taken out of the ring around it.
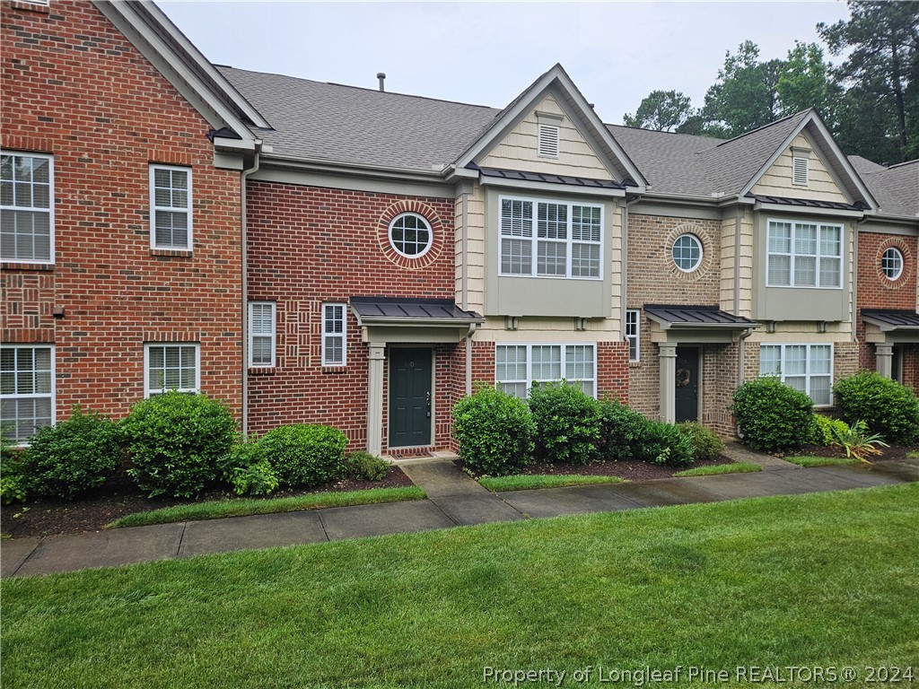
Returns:
[[[54,263],[54,159],[0,153],[0,260]]]

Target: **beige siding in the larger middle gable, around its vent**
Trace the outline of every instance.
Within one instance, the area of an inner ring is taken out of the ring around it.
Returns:
[[[536,111],[562,115],[559,157],[540,158]],[[553,96],[546,96],[523,121],[499,142],[488,155],[477,161],[482,167],[524,170],[549,175],[573,175],[591,179],[612,179],[609,170],[597,157],[580,130],[562,111]]]

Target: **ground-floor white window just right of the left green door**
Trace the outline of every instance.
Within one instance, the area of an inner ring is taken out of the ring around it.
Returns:
[[[594,344],[496,344],[494,381],[525,400],[534,383],[565,380],[596,397]]]

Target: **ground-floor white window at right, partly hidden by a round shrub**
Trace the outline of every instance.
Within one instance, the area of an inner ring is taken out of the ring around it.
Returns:
[[[833,404],[833,344],[760,344],[759,375],[778,376],[810,395],[820,407]]]

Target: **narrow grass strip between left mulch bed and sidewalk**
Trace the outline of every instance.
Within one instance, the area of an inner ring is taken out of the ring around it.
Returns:
[[[269,498],[267,500],[231,498],[230,500],[180,504],[174,507],[150,510],[149,512],[127,514],[109,524],[108,528],[171,524],[172,522],[187,522],[198,519],[222,519],[223,517],[248,516],[250,514],[299,512],[301,510],[315,510],[320,507],[401,503],[405,500],[424,500],[426,497],[427,493],[417,486],[406,486],[403,488],[370,488],[366,491],[317,492],[312,495],[298,495],[293,498]]]

